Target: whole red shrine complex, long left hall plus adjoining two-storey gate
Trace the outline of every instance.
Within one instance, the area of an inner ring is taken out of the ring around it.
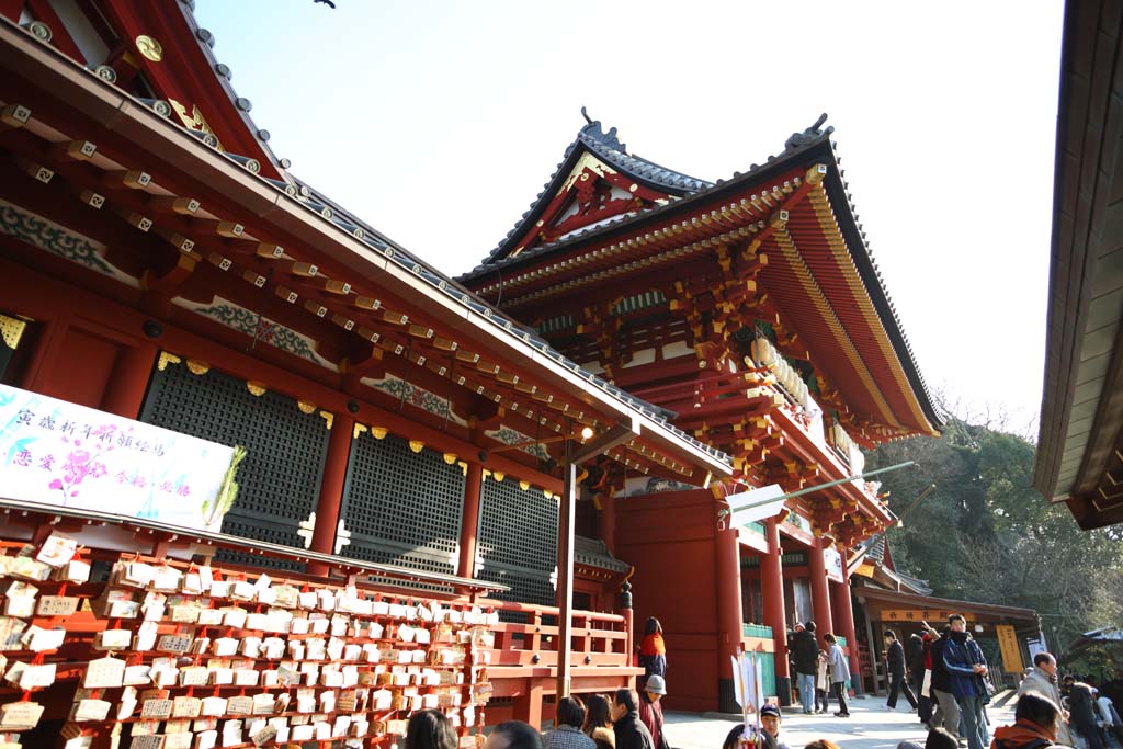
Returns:
[[[633,616],[674,709],[732,709],[739,648],[786,703],[796,620],[858,670],[877,485],[723,513],[941,424],[822,120],[716,183],[590,121],[451,280],[289,172],[190,2],[0,16],[0,383],[246,447],[218,559],[486,595],[489,722],[549,715],[563,641],[631,684]]]

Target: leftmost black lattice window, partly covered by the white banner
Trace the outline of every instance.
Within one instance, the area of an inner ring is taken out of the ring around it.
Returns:
[[[168,364],[153,374],[140,420],[222,445],[243,445],[238,499],[222,531],[284,546],[303,547],[299,523],[316,509],[328,451],[323,417],[303,413],[294,399],[253,395],[240,380],[213,369],[191,374]],[[252,555],[225,554],[230,561],[266,564]],[[299,569],[295,563],[271,566]]]

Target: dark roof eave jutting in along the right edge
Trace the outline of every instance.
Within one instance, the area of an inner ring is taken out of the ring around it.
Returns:
[[[1120,12],[1066,2],[1044,386],[1033,485],[1085,530],[1123,522]]]

